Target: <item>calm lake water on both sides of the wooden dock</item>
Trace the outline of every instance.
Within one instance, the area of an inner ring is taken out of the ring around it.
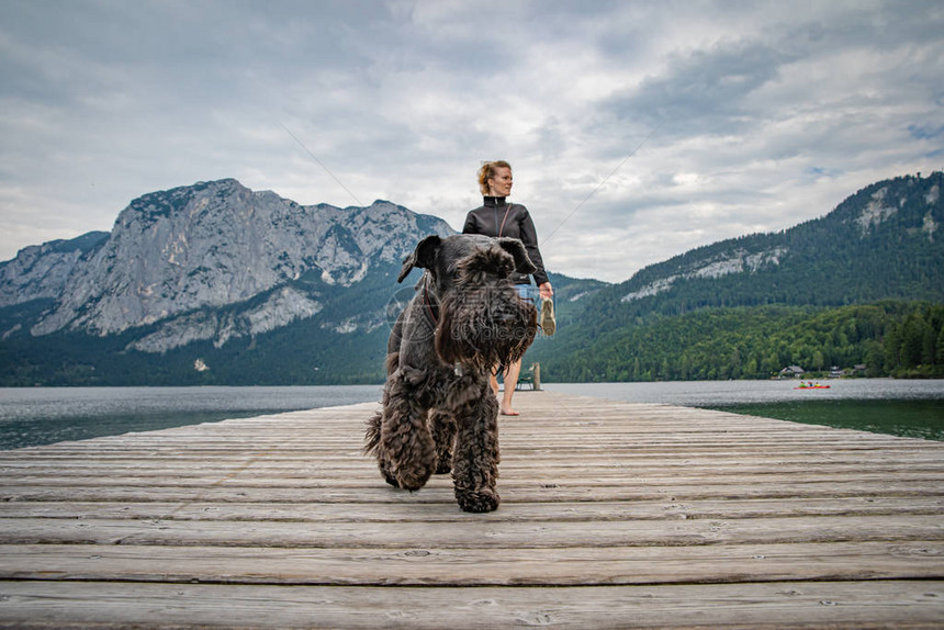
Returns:
[[[552,392],[666,403],[944,440],[944,381],[546,383]],[[521,392],[518,395],[531,395]],[[0,449],[375,402],[381,385],[0,389]]]

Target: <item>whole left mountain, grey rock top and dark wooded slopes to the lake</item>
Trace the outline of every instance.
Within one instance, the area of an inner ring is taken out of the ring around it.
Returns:
[[[233,179],[145,194],[111,233],[0,263],[0,384],[380,382],[419,275],[397,284],[402,260],[453,233],[386,201],[305,206]]]

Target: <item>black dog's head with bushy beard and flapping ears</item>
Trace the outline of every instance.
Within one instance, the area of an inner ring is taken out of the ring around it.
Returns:
[[[403,262],[429,274],[425,290],[439,303],[436,351],[446,363],[479,369],[519,359],[537,333],[537,310],[518,296],[512,273],[535,266],[517,238],[460,234],[428,236]]]

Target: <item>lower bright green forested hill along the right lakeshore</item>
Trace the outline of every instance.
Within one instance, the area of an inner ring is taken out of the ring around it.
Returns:
[[[769,379],[788,365],[811,376],[839,367],[863,376],[940,378],[944,306],[704,308],[614,331],[593,351],[542,350],[527,360],[540,360],[542,378],[557,382]]]

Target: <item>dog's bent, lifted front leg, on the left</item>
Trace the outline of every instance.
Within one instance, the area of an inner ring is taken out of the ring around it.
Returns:
[[[426,426],[427,408],[418,398],[417,379],[397,370],[387,380],[380,432],[381,451],[400,487],[416,491],[436,470],[436,445]]]

